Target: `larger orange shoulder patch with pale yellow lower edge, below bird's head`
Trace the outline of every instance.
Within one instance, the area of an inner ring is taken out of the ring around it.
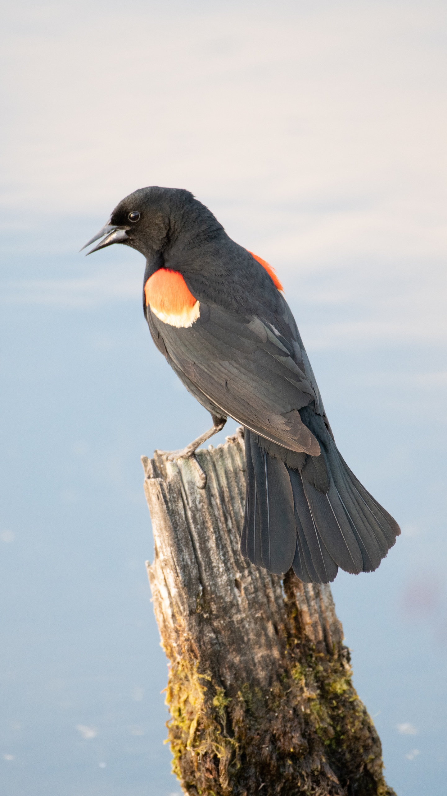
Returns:
[[[200,303],[189,291],[178,271],[159,268],[144,286],[146,306],[169,326],[192,326],[200,316]]]

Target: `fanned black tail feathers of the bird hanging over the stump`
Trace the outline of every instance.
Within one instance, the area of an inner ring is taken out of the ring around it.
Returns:
[[[243,556],[278,574],[293,567],[305,583],[328,583],[339,567],[358,573],[379,566],[400,529],[349,469],[332,438],[325,439],[320,456],[299,455],[296,469],[286,457],[269,455],[247,429],[244,440]]]

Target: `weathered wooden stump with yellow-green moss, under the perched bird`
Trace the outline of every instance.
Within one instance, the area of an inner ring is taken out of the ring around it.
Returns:
[[[188,459],[142,457],[154,529],[147,562],[173,771],[198,796],[391,796],[382,747],[352,685],[329,586],[239,552],[243,431]]]

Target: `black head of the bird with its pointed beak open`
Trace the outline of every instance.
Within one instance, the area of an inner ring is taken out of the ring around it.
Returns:
[[[149,259],[177,240],[181,232],[183,237],[185,231],[191,235],[194,228],[209,226],[212,221],[220,227],[212,213],[189,191],[153,185],[122,199],[107,224],[83,248],[102,238],[87,254],[112,244],[124,244]]]

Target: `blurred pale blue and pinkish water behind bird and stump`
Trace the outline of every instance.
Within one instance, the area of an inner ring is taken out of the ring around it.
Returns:
[[[445,789],[446,23],[434,0],[4,4],[4,796],[180,793],[139,456],[209,419],[150,340],[142,257],[78,254],[144,185],[192,190],[284,283],[340,451],[402,525],[333,584],[354,682],[398,796]]]

